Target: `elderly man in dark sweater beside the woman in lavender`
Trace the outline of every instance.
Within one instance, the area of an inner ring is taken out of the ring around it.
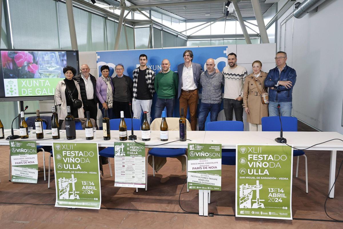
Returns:
[[[120,111],[124,112],[124,117],[131,118],[131,108],[129,102],[132,101],[133,81],[124,75],[124,65],[116,65],[117,75],[112,78],[113,84],[113,118],[120,118]]]

